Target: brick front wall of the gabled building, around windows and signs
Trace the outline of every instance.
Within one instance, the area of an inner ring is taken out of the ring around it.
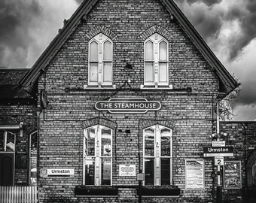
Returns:
[[[130,79],[120,92],[109,89],[88,91],[88,41],[102,32],[113,41],[113,81],[117,88]],[[193,91],[140,91],[144,76],[143,44],[154,32],[169,41],[169,84],[174,89],[190,86]],[[129,60],[133,71],[124,66]],[[83,126],[87,120],[101,117],[117,123],[114,135],[113,185],[136,185],[136,177],[120,177],[118,165],[142,162],[143,126],[162,123],[172,128],[173,184],[181,189],[179,198],[142,198],[143,202],[212,202],[212,159],[206,159],[206,189],[186,190],[185,159],[203,159],[203,147],[211,144],[214,131],[212,109],[218,92],[218,77],[178,23],[160,1],[99,0],[38,81],[38,90],[46,87],[49,105],[40,120],[40,168],[75,168],[75,177],[41,177],[40,201],[65,196],[74,202],[135,202],[136,189],[120,188],[117,197],[83,198],[74,195],[82,184]],[[69,91],[68,91],[69,89]],[[136,90],[137,89],[137,90]],[[96,111],[94,104],[108,97],[143,97],[159,101],[160,111],[147,114],[109,114]],[[155,122],[152,120],[156,120]],[[168,120],[168,121],[167,121]],[[119,132],[118,130],[122,130]],[[130,129],[130,134],[123,133]],[[139,148],[140,147],[140,148]]]

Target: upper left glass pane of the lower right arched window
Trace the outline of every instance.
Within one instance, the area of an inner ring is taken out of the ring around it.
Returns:
[[[145,156],[154,156],[154,129],[145,130]]]

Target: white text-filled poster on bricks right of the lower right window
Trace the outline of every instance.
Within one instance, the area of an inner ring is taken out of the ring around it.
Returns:
[[[202,159],[186,159],[186,189],[205,188],[205,162]]]

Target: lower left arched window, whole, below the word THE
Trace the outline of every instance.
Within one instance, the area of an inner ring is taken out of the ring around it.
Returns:
[[[84,129],[85,185],[112,184],[112,129],[92,126]]]

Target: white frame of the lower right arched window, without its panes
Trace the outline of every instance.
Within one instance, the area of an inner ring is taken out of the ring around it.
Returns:
[[[145,156],[145,131],[147,129],[154,129],[154,156]],[[170,156],[161,156],[161,129],[169,129],[170,131]],[[154,186],[161,186],[161,159],[170,159],[170,184],[172,184],[172,129],[161,126],[154,125],[146,129],[143,129],[143,173],[145,174],[145,159],[154,159]],[[145,180],[143,181],[145,185]]]

